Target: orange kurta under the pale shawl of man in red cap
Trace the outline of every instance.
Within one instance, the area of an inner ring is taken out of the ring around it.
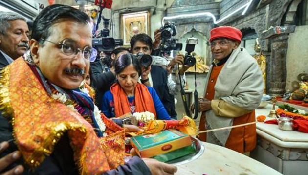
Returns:
[[[208,100],[213,100],[215,95],[215,84],[217,78],[220,74],[220,71],[224,64],[220,66],[213,66],[211,75],[209,78],[209,82],[207,85],[206,93],[204,94],[204,98]],[[236,117],[233,119],[233,126],[240,125],[244,123],[249,123],[255,121],[255,111],[253,110],[250,113],[247,113],[241,117]],[[202,112],[200,124],[199,124],[199,131],[204,131],[205,128],[205,112]],[[244,127],[238,127],[231,130],[230,135],[227,139],[225,144],[226,148],[231,150],[244,153],[249,152],[256,146],[256,125],[248,125]],[[202,141],[206,141],[206,133],[202,133],[199,135],[199,139]]]

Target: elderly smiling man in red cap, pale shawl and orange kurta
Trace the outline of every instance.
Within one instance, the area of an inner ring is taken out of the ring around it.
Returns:
[[[210,130],[255,121],[264,89],[261,70],[255,59],[240,47],[240,30],[221,26],[210,32],[213,63],[206,77],[199,129]],[[256,146],[256,125],[200,134],[202,141],[240,153]]]

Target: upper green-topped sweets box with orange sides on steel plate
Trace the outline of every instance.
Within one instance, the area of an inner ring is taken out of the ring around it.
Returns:
[[[131,138],[131,145],[140,157],[154,157],[192,145],[189,135],[177,130],[165,130],[155,134]]]

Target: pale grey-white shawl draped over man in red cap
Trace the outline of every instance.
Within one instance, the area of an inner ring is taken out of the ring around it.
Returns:
[[[205,91],[212,72],[212,67],[206,76]],[[264,82],[261,70],[256,60],[239,47],[233,50],[229,59],[222,67],[215,84],[214,99],[222,99],[227,103],[247,109],[256,109],[262,98]],[[233,118],[215,115],[213,110],[205,113],[207,129],[216,129],[233,125]],[[207,142],[224,146],[231,129],[208,132]]]

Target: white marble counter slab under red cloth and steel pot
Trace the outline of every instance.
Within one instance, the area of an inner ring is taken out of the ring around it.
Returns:
[[[269,104],[263,109],[256,109],[256,117],[259,115],[267,116],[271,110],[271,106],[272,105]],[[266,117],[266,120],[271,119],[274,118]],[[283,131],[278,128],[278,125],[265,124],[262,122],[257,123],[257,133],[281,147],[308,148],[308,133]]]

